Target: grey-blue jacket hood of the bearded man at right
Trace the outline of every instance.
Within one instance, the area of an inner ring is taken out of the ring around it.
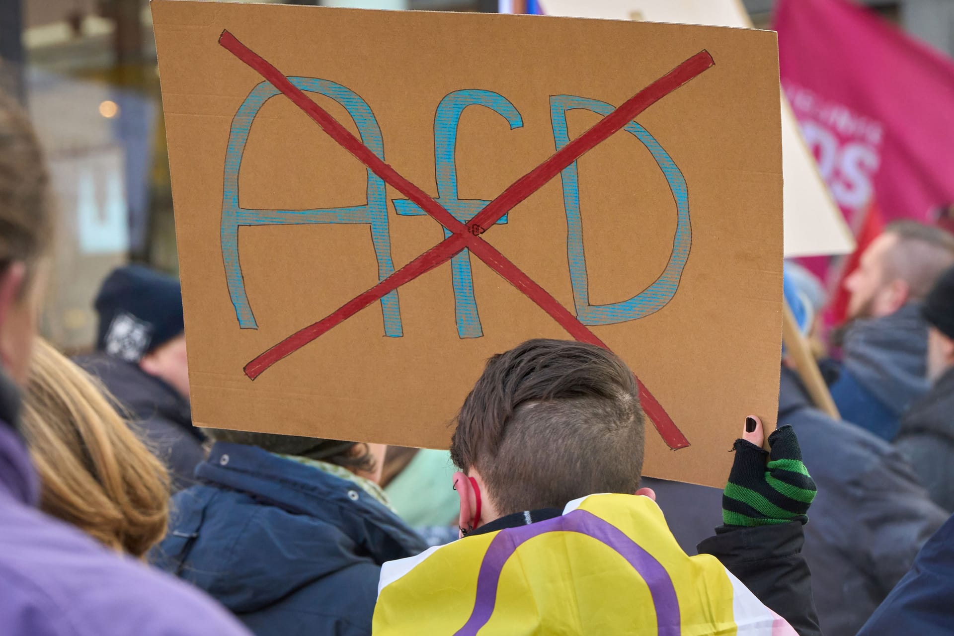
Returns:
[[[858,320],[845,335],[845,368],[897,417],[929,386],[921,307],[909,302],[890,316]]]

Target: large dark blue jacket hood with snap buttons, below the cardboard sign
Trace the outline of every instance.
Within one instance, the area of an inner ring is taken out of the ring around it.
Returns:
[[[426,547],[357,484],[254,446],[217,442],[196,476],[203,484],[173,500],[158,561],[180,561],[186,578],[237,614]]]

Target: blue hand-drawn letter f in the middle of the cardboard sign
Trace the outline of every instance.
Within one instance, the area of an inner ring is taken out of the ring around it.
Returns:
[[[437,202],[447,212],[462,223],[467,223],[489,201],[484,199],[461,200],[457,192],[457,166],[455,151],[457,146],[457,128],[461,114],[468,106],[486,106],[488,109],[507,119],[510,130],[521,128],[523,119],[517,109],[503,95],[482,90],[467,89],[451,92],[437,107],[434,116],[434,164],[437,174]],[[418,216],[425,212],[417,204],[407,199],[395,199],[394,208],[399,215]],[[507,215],[497,223],[507,223]],[[444,236],[450,236],[445,228]],[[457,317],[457,334],[461,338],[480,338],[484,335],[481,328],[477,302],[474,299],[473,277],[470,272],[470,253],[464,250],[450,261],[451,277],[454,287],[454,305]]]

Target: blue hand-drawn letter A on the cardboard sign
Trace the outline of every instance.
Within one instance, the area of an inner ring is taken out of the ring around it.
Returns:
[[[374,154],[384,160],[384,140],[381,128],[367,103],[355,92],[341,84],[313,77],[289,77],[301,91],[317,92],[341,104],[351,115],[361,140]],[[367,171],[367,202],[345,208],[315,208],[311,210],[253,210],[239,205],[239,169],[245,143],[256,116],[272,97],[280,92],[268,82],[261,82],[242,102],[232,120],[229,143],[225,154],[225,187],[222,195],[221,243],[225,263],[225,277],[229,296],[242,329],[258,329],[255,315],[245,293],[245,282],[239,265],[239,226],[242,225],[306,225],[312,223],[367,223],[371,226],[371,242],[378,260],[378,278],[384,280],[394,273],[391,261],[391,239],[387,225],[387,199],[384,180]],[[403,335],[401,307],[397,290],[381,299],[384,314],[384,335],[400,338]]]

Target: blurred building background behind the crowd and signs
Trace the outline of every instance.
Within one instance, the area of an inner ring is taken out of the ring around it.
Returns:
[[[497,0],[288,4],[497,10]],[[773,0],[744,4],[757,26],[770,24]],[[954,53],[954,0],[866,4],[924,42]],[[176,272],[148,0],[0,0],[0,87],[28,107],[59,195],[61,232],[44,331],[59,346],[80,351],[92,342],[92,299],[110,269],[135,260]]]

